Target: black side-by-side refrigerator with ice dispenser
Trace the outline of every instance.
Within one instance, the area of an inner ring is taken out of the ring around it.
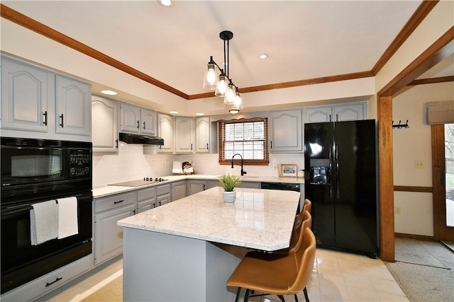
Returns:
[[[304,124],[304,191],[317,246],[375,258],[375,120]]]

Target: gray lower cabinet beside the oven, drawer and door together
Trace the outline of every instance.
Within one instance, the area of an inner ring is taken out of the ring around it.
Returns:
[[[123,228],[117,221],[135,214],[136,192],[94,199],[94,265],[123,252]]]

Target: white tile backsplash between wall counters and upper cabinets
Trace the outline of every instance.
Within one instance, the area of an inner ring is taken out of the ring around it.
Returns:
[[[235,165],[233,169],[231,165],[219,165],[218,154],[159,154],[156,152],[156,146],[120,144],[116,154],[94,153],[93,187],[144,177],[171,175],[173,161],[189,161],[199,174],[240,175],[239,165]],[[270,153],[270,165],[245,165],[243,169],[250,176],[279,176],[278,163],[294,163],[298,165],[298,169],[304,169],[304,154]]]

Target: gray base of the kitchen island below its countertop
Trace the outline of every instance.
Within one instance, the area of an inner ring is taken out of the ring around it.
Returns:
[[[234,301],[246,248],[123,228],[123,301]]]

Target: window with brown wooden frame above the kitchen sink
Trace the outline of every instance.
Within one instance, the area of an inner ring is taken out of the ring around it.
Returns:
[[[268,165],[268,120],[221,120],[218,122],[219,164],[230,165],[236,153],[243,156],[244,165]],[[234,158],[241,161],[240,156]]]

